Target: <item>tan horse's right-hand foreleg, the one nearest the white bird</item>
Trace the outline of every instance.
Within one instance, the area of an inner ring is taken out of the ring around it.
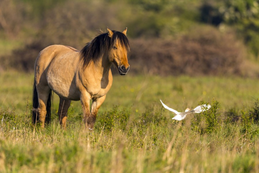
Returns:
[[[90,116],[87,118],[87,125],[89,126],[89,129],[94,128],[97,112],[100,106],[102,105],[102,103],[104,102],[105,97],[106,95],[99,97],[98,99],[93,99]]]

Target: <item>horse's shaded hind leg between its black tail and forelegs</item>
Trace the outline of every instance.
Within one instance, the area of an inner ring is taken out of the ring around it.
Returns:
[[[71,100],[66,100],[59,97],[58,119],[59,119],[59,124],[64,129],[66,128],[67,111],[70,104],[71,104]]]

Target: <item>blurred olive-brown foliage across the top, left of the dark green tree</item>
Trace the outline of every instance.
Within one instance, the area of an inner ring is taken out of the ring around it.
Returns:
[[[123,26],[121,29],[127,26],[130,37],[159,37],[179,33],[182,29],[186,29],[191,25],[191,22],[188,21],[195,22],[195,20],[198,20],[198,5],[199,3],[195,0],[180,2],[169,0],[127,0],[124,2],[117,0],[94,2],[76,0],[73,3],[67,0],[3,0],[0,2],[0,6],[7,6],[7,8],[0,9],[3,13],[2,17],[8,21],[7,25],[11,25],[12,21],[14,21],[13,18],[9,20],[9,17],[15,12],[14,15],[17,18],[20,17],[20,21],[23,21],[20,24],[18,23],[19,26],[21,25],[24,29],[33,27],[39,32],[47,29],[45,28],[47,27],[45,20],[51,22],[49,21],[51,19],[55,22],[52,27],[55,27],[55,25],[58,27],[59,23],[73,18],[73,20],[79,20],[79,24],[85,22],[86,24],[83,25],[87,25],[93,30],[106,28],[107,25],[111,28],[113,26],[116,26],[116,28]],[[70,21],[66,21],[66,25],[69,25]],[[0,30],[4,29],[1,24]],[[75,25],[71,25],[71,27],[75,27]],[[23,32],[26,33],[26,29]],[[85,30],[85,33],[88,32],[92,31]],[[27,34],[30,35],[31,33]]]

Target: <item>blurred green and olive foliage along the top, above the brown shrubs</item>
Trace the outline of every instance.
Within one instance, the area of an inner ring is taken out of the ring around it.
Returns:
[[[86,25],[85,33],[89,36],[93,31],[87,31],[87,29],[96,30],[109,25],[111,28],[115,26],[116,29],[121,28],[121,30],[127,26],[130,37],[167,37],[186,31],[199,22],[205,22],[217,26],[227,24],[235,27],[243,34],[245,42],[250,45],[253,44],[252,37],[257,35],[256,31],[259,27],[258,2],[258,0],[127,0],[124,2],[118,0],[94,2],[2,0],[0,31],[5,30],[10,34],[20,31],[29,36],[32,30],[37,31],[36,35],[44,30],[49,31],[48,25],[59,29],[70,29],[66,25],[70,25],[71,28]],[[73,21],[70,18],[78,20],[79,23],[70,23]]]

